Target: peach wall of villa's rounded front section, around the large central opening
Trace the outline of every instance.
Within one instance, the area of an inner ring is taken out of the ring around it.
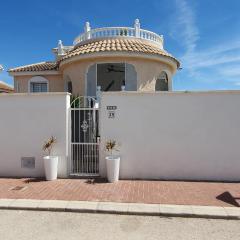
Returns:
[[[154,91],[156,79],[162,71],[166,71],[169,78],[169,88],[172,89],[172,74],[173,70],[165,63],[159,61],[141,59],[141,58],[126,58],[126,57],[101,57],[78,62],[72,62],[61,68],[63,71],[63,79],[71,79],[74,95],[85,95],[86,90],[86,75],[88,68],[96,63],[124,63],[127,62],[135,67],[137,72],[138,90],[139,91]]]

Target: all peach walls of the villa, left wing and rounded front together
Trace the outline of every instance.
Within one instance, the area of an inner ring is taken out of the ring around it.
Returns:
[[[155,60],[129,58],[129,57],[101,57],[84,59],[82,61],[72,62],[63,66],[60,70],[62,75],[42,75],[49,81],[50,92],[64,92],[65,85],[72,81],[73,94],[85,95],[86,75],[88,68],[95,63],[124,63],[127,62],[135,67],[137,72],[138,90],[154,91],[157,77],[162,71],[166,71],[169,79],[169,89],[172,89],[173,70],[165,63]],[[24,75],[14,77],[14,88],[16,92],[28,92],[28,82],[35,75]]]

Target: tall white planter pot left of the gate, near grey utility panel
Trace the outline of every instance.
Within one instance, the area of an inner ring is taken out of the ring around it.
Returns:
[[[43,160],[44,160],[46,180],[52,181],[57,179],[58,157],[46,156],[46,157],[43,157]]]

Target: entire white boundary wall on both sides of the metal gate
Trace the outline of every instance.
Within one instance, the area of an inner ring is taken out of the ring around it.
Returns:
[[[104,144],[113,139],[122,179],[239,181],[238,109],[239,91],[102,93],[100,176]],[[4,94],[0,112],[1,177],[43,177],[42,145],[51,135],[58,177],[69,177],[69,94]],[[35,167],[23,167],[22,158],[35,158]]]

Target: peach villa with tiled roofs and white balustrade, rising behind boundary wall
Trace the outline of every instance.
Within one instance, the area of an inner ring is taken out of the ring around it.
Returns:
[[[55,61],[12,68],[9,74],[17,93],[171,91],[180,63],[163,43],[162,35],[141,29],[138,19],[134,27],[91,29],[87,22],[72,46],[59,40]]]

